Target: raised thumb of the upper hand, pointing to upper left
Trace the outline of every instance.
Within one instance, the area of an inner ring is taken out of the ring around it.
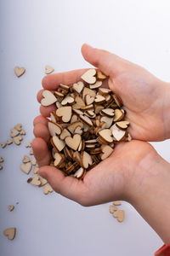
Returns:
[[[88,44],[82,45],[82,56],[94,67],[98,67],[105,75],[111,76],[121,73],[127,61],[111,54],[104,49],[93,48]]]

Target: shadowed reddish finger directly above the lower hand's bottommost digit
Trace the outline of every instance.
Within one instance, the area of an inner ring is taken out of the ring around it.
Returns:
[[[48,144],[42,137],[37,137],[33,140],[32,148],[38,166],[47,166],[50,164],[51,154],[48,149]]]

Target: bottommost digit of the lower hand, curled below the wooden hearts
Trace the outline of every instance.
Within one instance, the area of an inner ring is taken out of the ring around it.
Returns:
[[[83,203],[84,198],[88,197],[88,189],[86,189],[82,180],[75,177],[65,177],[63,172],[52,166],[43,166],[39,169],[38,174],[48,180],[53,189],[65,197]]]

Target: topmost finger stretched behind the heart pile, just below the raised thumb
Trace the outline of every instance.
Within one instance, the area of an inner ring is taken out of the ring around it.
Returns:
[[[87,69],[78,69],[65,73],[53,73],[42,79],[42,86],[45,90],[57,90],[59,84],[77,83]]]

